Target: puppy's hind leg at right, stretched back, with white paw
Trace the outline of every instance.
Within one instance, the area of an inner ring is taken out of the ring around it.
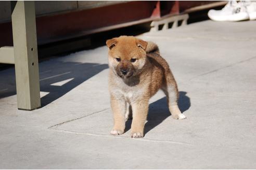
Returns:
[[[178,88],[176,83],[167,83],[167,85],[161,89],[167,96],[167,103],[172,117],[174,119],[186,119],[186,116],[183,115],[180,108],[178,108]]]

